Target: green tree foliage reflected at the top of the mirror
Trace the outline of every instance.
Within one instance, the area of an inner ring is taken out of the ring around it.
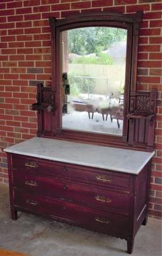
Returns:
[[[69,53],[86,55],[104,51],[116,41],[125,41],[127,30],[113,27],[85,27],[68,30]]]

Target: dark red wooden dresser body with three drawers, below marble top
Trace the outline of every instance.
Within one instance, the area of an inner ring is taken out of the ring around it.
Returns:
[[[17,211],[127,240],[146,224],[151,163],[138,175],[9,154],[11,217]]]

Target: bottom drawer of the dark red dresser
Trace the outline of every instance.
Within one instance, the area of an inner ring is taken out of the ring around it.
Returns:
[[[35,214],[58,217],[101,233],[110,234],[113,231],[126,234],[129,229],[128,217],[82,207],[49,196],[22,193],[18,189],[15,189],[15,207],[27,209]]]

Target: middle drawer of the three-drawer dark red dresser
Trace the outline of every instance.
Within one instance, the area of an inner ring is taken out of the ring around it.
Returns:
[[[13,172],[13,186],[25,191],[61,198],[68,202],[90,205],[107,212],[123,215],[128,215],[130,212],[132,198],[130,195],[83,185],[79,182],[61,181],[56,177],[34,176],[16,171]]]

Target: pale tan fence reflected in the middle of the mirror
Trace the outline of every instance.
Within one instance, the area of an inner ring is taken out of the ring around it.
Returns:
[[[123,93],[125,86],[125,64],[69,64],[68,73],[70,77],[73,75],[74,84],[81,86],[82,92],[87,91],[88,95],[93,93],[111,96],[113,93],[116,98],[116,93]],[[73,84],[73,81],[71,84]]]

